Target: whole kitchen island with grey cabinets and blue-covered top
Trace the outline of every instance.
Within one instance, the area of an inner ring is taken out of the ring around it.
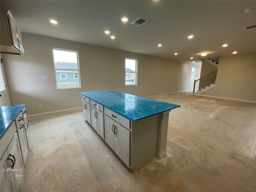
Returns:
[[[180,105],[111,90],[81,94],[84,118],[130,169],[167,154],[169,112]]]

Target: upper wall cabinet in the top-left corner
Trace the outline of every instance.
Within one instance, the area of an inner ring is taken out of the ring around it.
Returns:
[[[21,30],[15,22],[10,10],[1,10],[0,52],[9,54],[24,54]]]

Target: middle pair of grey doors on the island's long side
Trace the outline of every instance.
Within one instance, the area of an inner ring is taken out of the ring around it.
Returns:
[[[91,105],[91,126],[104,139],[104,116],[103,113]]]

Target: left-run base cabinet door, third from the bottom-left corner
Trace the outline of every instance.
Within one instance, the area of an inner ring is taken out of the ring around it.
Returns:
[[[25,166],[28,158],[28,142],[26,137],[25,124],[23,123],[18,128],[18,138],[20,141],[20,148],[21,148],[22,158]]]

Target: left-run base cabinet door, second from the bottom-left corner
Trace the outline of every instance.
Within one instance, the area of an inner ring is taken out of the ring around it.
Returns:
[[[20,150],[20,144],[19,144],[19,140],[18,140],[18,136],[17,136],[17,132],[14,134],[14,137],[9,145],[9,147],[7,148],[7,152],[10,155],[10,158],[15,158],[14,160],[14,167],[13,169],[18,170],[15,172],[15,176],[14,176],[14,181],[15,181],[15,186],[16,186],[16,190],[20,191],[20,186],[22,184],[22,180],[24,178],[23,173],[24,173],[24,164],[23,164],[23,160],[22,160],[22,154],[21,154],[21,150]]]

